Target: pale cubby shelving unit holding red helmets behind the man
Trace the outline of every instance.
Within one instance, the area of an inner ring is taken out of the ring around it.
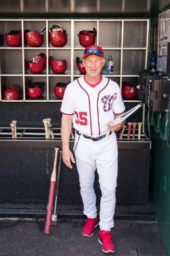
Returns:
[[[49,41],[48,29],[58,23],[67,31],[68,42],[63,47],[53,47]],[[25,29],[41,31],[46,27],[44,43],[42,47],[30,47],[24,40]],[[0,101],[4,100],[4,90],[12,85],[17,86],[23,102],[60,102],[54,94],[54,87],[57,82],[73,81],[80,77],[75,59],[77,56],[82,59],[83,47],[79,43],[79,31],[97,30],[96,44],[103,47],[106,60],[112,54],[114,60],[114,75],[107,75],[106,66],[102,75],[110,77],[120,84],[123,81],[138,82],[138,72],[147,68],[149,19],[1,19],[0,34],[4,40],[0,45]],[[5,33],[11,30],[22,29],[22,45],[20,47],[9,47],[5,42]],[[51,70],[47,61],[46,69],[40,75],[32,74],[27,65],[27,60],[45,53],[47,60],[49,56],[54,59],[66,59],[67,70],[64,74],[56,75]],[[29,99],[25,82],[44,81],[45,88],[42,99]],[[8,101],[10,102],[10,101]],[[16,102],[16,100],[15,100]],[[127,101],[125,102],[140,102]]]

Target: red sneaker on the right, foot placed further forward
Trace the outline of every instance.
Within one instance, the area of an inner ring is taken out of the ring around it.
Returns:
[[[112,237],[111,237],[110,231],[100,230],[98,241],[102,245],[103,252],[106,252],[106,253],[114,252],[114,245],[112,242]]]

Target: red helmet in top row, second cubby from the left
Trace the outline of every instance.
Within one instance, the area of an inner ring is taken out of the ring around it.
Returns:
[[[36,30],[25,30],[25,39],[27,43],[32,47],[39,47],[44,42],[44,32],[46,28],[43,28],[41,32],[37,32]]]

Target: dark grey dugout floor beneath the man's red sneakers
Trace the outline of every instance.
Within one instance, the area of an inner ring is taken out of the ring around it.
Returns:
[[[44,221],[1,220],[1,256],[100,256],[98,231],[83,237],[83,220],[58,220],[51,234],[44,235]],[[116,256],[168,256],[158,228],[152,222],[115,221],[112,229]]]

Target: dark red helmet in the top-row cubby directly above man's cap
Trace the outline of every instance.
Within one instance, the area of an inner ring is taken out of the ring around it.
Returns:
[[[97,31],[95,28],[92,30],[82,30],[79,32],[79,42],[83,47],[94,45],[96,41]]]

